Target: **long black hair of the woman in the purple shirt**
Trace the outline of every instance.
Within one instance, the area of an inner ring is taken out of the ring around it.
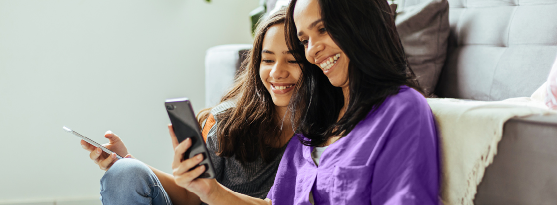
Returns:
[[[316,65],[302,69],[304,84],[292,95],[289,106],[299,111],[292,115],[292,122],[299,123],[297,130],[308,139],[300,140],[309,146],[322,145],[332,136],[346,136],[388,96],[397,94],[401,85],[423,94],[408,65],[387,1],[318,1],[326,31],[350,59],[350,91],[345,113],[337,121],[344,106],[340,87],[333,88]],[[297,61],[307,62],[294,23],[296,2],[290,2],[286,14],[286,43]]]

